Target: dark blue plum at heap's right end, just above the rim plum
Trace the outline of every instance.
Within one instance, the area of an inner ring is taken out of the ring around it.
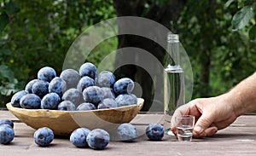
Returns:
[[[129,94],[134,89],[131,78],[121,78],[113,84],[113,92],[116,95]]]

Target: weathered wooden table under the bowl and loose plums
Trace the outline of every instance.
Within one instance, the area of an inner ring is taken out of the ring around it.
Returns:
[[[15,139],[10,145],[0,145],[0,156],[56,156],[56,155],[256,155],[256,115],[237,118],[215,136],[177,142],[175,136],[165,136],[161,142],[148,141],[144,131],[149,123],[161,122],[162,114],[138,114],[131,123],[139,130],[135,142],[111,141],[104,150],[74,147],[69,138],[55,137],[49,147],[38,147],[33,141],[33,130],[8,111],[0,111],[0,118],[15,122]]]

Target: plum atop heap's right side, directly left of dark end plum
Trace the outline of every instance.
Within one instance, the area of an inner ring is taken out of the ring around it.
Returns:
[[[114,83],[115,83],[115,77],[113,75],[113,72],[102,71],[96,77],[97,86],[110,88],[110,87],[113,87]]]

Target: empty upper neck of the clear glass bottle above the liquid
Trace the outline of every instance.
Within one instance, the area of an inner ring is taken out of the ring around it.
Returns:
[[[177,34],[167,36],[168,66],[180,66],[179,39]]]

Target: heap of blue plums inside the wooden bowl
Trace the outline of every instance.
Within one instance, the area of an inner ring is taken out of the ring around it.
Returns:
[[[131,94],[131,78],[116,80],[113,72],[102,71],[90,62],[84,63],[79,72],[66,69],[56,76],[55,69],[45,66],[38,71],[38,78],[26,84],[25,90],[15,93],[13,107],[26,109],[54,109],[85,111],[137,104]]]

